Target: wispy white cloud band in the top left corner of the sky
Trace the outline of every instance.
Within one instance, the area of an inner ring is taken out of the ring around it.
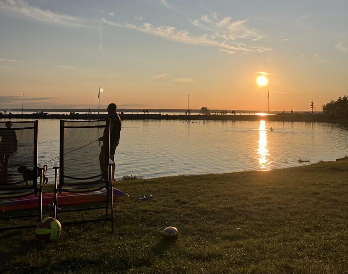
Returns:
[[[90,26],[90,22],[85,18],[41,9],[24,0],[0,0],[0,12],[51,24],[73,27]]]

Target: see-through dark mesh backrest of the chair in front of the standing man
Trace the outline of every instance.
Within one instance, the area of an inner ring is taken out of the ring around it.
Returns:
[[[63,125],[63,151],[60,156],[62,186],[87,187],[90,184],[105,183],[105,169],[101,171],[99,158],[102,151],[101,158],[105,164],[108,138],[100,146],[98,138],[104,136],[106,120],[63,121]]]

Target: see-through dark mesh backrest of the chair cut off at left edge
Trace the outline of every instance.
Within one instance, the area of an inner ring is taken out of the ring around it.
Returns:
[[[18,194],[36,186],[34,138],[35,122],[0,122],[0,195]]]

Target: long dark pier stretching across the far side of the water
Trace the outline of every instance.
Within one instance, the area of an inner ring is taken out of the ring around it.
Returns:
[[[105,119],[107,114],[0,114],[0,119]],[[347,119],[338,119],[324,115],[276,114],[276,115],[221,115],[221,114],[120,114],[122,120],[201,120],[201,121],[284,121],[284,122],[334,122],[347,123]]]

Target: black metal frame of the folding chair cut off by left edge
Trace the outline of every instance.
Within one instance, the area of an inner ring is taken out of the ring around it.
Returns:
[[[1,124],[4,124],[6,122],[0,122]],[[6,217],[0,217],[0,220],[8,220],[8,219],[19,219],[19,218],[28,218],[28,217],[37,217],[38,221],[41,221],[42,219],[42,179],[43,179],[43,168],[38,167],[38,121],[11,121],[11,123],[32,123],[33,126],[28,127],[21,127],[21,128],[11,128],[6,129],[2,128],[0,126],[1,130],[25,130],[25,129],[34,129],[34,138],[33,138],[33,174],[34,174],[34,180],[32,186],[15,186],[20,183],[24,183],[25,181],[15,182],[15,183],[8,183],[6,187],[0,188],[0,199],[4,198],[14,198],[14,197],[25,197],[28,195],[38,195],[38,213],[37,214],[31,214],[31,215],[10,215]],[[40,174],[40,180],[39,185],[37,184],[37,171],[39,171]],[[32,228],[36,227],[35,225],[25,225],[25,226],[13,226],[13,227],[3,227],[0,228],[0,231],[5,230],[13,230],[13,229],[23,229],[23,228]]]

